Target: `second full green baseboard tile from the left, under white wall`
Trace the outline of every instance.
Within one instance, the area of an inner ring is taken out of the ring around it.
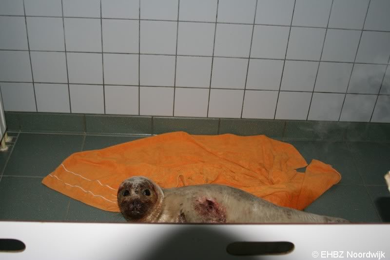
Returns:
[[[151,135],[152,117],[85,115],[87,133]]]

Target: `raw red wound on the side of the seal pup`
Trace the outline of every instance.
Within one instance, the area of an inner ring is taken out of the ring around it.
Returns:
[[[199,198],[194,202],[194,209],[208,223],[225,223],[226,209],[215,200],[209,198]]]

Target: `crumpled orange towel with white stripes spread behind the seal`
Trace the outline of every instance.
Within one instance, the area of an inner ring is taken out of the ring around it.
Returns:
[[[168,133],[75,153],[42,183],[73,199],[118,212],[122,180],[145,176],[163,188],[218,183],[280,206],[304,209],[341,177],[330,165],[305,159],[288,143],[266,136]]]

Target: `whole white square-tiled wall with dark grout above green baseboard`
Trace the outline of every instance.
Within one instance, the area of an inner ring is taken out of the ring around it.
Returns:
[[[5,110],[388,122],[389,8],[0,0]]]

